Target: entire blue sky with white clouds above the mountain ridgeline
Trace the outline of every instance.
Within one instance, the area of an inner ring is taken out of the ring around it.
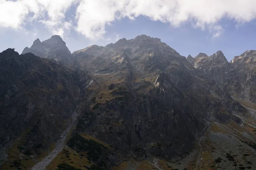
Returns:
[[[0,51],[61,35],[71,52],[140,34],[183,56],[256,49],[256,0],[0,0]]]

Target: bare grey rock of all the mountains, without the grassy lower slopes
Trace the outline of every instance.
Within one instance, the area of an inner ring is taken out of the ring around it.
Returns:
[[[231,63],[221,51],[186,58],[146,35],[73,54],[57,35],[35,40],[22,55],[7,49],[0,53],[0,144],[25,133],[20,152],[37,155],[76,111],[67,145],[89,150],[94,164],[180,160],[212,122],[241,125],[250,116],[231,95],[254,101],[255,54]]]

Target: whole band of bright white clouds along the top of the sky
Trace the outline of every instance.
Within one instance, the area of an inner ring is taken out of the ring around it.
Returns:
[[[78,3],[75,24],[65,21],[67,10]],[[212,37],[224,31],[223,17],[237,24],[256,18],[256,0],[0,0],[0,26],[23,28],[26,23],[43,23],[52,33],[64,34],[74,28],[90,39],[104,36],[105,26],[115,20],[138,16],[178,27],[208,29]],[[32,15],[33,14],[33,15]]]

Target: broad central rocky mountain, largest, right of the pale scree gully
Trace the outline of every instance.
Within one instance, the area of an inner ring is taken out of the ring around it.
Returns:
[[[88,49],[73,53],[93,77],[80,130],[125,157],[181,159],[210,121],[241,123],[232,113],[248,115],[228,94],[211,91],[186,57],[160,39],[142,35],[93,54]]]

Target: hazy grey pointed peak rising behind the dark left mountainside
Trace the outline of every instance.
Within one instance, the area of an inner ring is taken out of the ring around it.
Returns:
[[[59,35],[53,35],[50,39],[41,42],[36,39],[30,48],[26,47],[21,54],[35,54],[38,57],[52,58],[64,62],[69,66],[75,64],[75,60],[69,49]]]

